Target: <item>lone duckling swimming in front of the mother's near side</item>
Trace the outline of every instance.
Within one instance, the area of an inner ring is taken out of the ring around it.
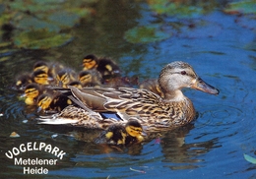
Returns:
[[[96,144],[131,146],[144,141],[143,129],[137,120],[129,120],[125,126],[113,124],[95,140]]]

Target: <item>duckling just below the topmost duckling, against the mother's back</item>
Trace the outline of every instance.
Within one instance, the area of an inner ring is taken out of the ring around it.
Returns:
[[[102,77],[96,70],[84,70],[79,73],[79,81],[83,87],[96,87],[102,85]]]

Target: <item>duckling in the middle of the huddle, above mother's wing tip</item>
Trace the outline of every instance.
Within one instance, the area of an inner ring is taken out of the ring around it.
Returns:
[[[56,80],[59,87],[66,89],[69,83],[77,81],[77,75],[71,69],[63,69],[57,73]]]

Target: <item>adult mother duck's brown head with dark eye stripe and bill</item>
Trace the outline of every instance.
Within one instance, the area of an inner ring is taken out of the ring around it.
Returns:
[[[175,61],[163,67],[159,84],[164,98],[169,100],[178,100],[182,97],[180,89],[183,88],[198,89],[211,94],[219,93],[219,89],[205,83],[188,63],[181,61]]]

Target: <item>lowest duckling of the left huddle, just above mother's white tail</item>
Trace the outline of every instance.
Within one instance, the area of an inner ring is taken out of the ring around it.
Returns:
[[[73,104],[73,101],[59,92],[46,92],[39,95],[37,99],[38,111],[60,112],[71,104]]]

